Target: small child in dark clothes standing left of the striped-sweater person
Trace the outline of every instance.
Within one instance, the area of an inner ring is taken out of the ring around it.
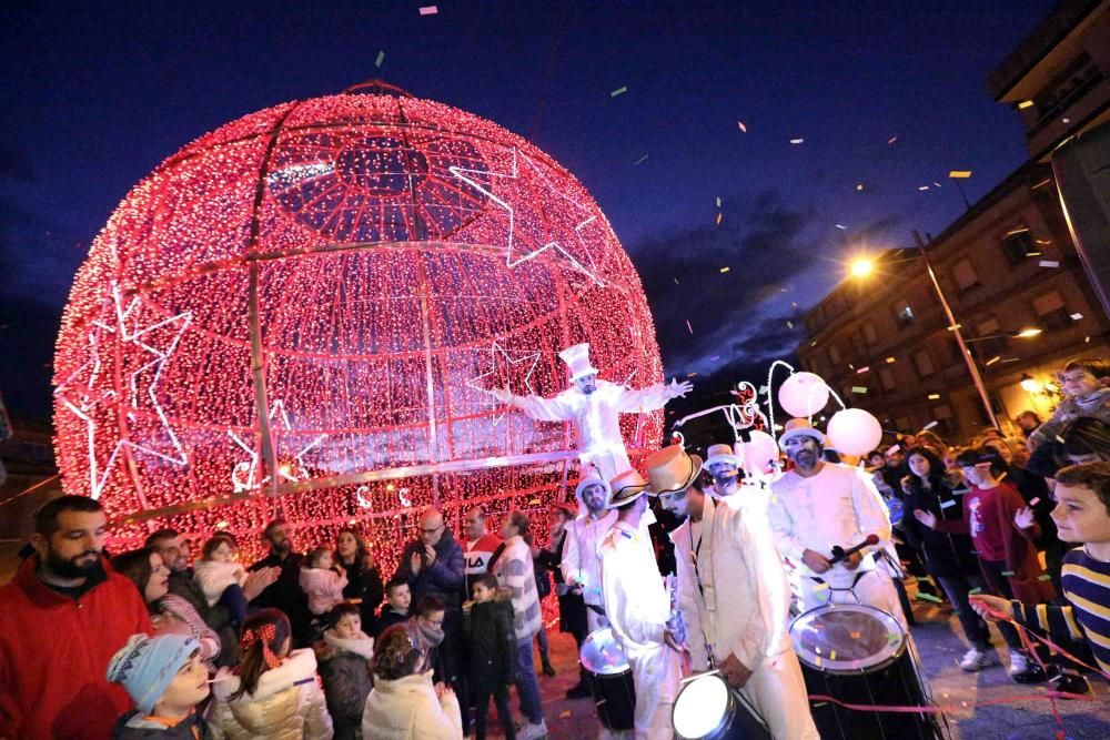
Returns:
[[[474,581],[474,600],[463,605],[463,631],[471,646],[471,697],[477,714],[476,740],[485,740],[490,697],[497,707],[497,719],[506,740],[515,740],[513,713],[508,706],[508,686],[516,667],[516,633],[513,631],[513,602],[500,598],[497,579],[483,574]]]

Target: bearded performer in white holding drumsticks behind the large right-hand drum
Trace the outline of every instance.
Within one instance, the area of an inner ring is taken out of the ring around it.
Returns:
[[[906,626],[898,592],[876,558],[890,547],[890,518],[875,484],[862,470],[821,459],[825,435],[806,419],[790,419],[779,438],[795,468],[771,484],[767,517],[779,551],[798,567],[801,609],[864,604]],[[848,549],[868,535],[879,538],[836,565],[833,547]],[[909,629],[907,628],[907,635]]]

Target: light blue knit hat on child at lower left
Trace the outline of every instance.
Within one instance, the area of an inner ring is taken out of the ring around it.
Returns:
[[[200,642],[182,635],[132,635],[108,663],[108,680],[123,685],[139,711],[149,714],[200,647]]]

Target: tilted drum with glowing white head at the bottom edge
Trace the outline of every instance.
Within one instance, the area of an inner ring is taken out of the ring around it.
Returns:
[[[679,740],[770,740],[744,697],[716,672],[684,681],[670,723]]]

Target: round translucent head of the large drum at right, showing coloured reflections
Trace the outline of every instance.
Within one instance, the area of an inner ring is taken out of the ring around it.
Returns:
[[[858,604],[810,609],[790,625],[798,658],[831,673],[867,672],[898,657],[906,632],[891,615]]]

